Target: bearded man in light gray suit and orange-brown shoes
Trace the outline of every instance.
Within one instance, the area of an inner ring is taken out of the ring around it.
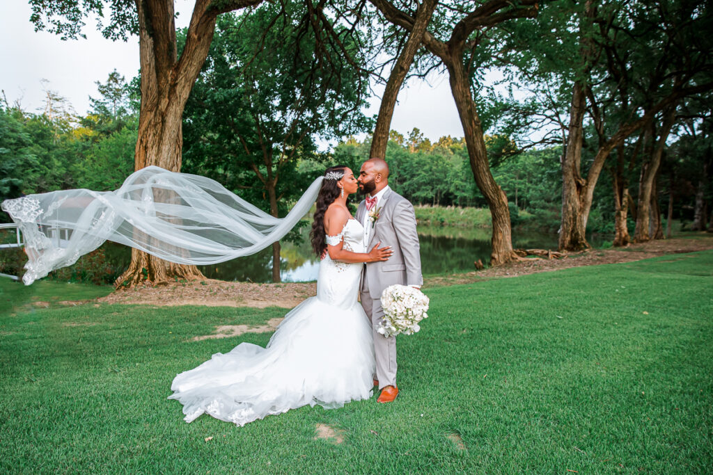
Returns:
[[[361,306],[371,321],[376,355],[376,380],[381,394],[377,402],[391,402],[399,395],[396,387],[396,337],[384,337],[376,332],[384,316],[381,292],[399,283],[420,288],[421,276],[419,234],[416,215],[411,203],[389,188],[389,165],[379,158],[371,158],[361,165],[359,189],[366,199],[356,209],[356,219],[364,226],[366,249],[377,242],[391,246],[394,254],[388,261],[367,263],[361,276]],[[376,381],[375,381],[376,383]]]

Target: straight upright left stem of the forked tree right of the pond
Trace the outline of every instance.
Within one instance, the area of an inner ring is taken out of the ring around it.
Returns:
[[[561,166],[562,217],[558,242],[560,251],[581,251],[590,247],[585,237],[587,224],[583,213],[583,192],[587,182],[580,174],[585,104],[584,85],[577,81],[572,90],[567,147]]]

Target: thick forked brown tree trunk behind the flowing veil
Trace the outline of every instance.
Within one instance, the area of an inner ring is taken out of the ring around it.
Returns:
[[[183,135],[183,108],[205,62],[217,13],[210,0],[197,0],[186,45],[177,58],[173,1],[137,1],[141,66],[141,108],[134,168],[157,165],[179,172]],[[183,266],[132,249],[129,268],[115,286],[164,283],[176,278],[203,278],[195,266]]]

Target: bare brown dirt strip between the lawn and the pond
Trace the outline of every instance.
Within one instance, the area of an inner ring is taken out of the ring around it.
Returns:
[[[713,249],[713,235],[690,234],[685,237],[631,244],[626,248],[592,249],[569,254],[565,259],[525,259],[481,271],[446,276],[426,276],[424,288],[482,281],[488,278],[514,277],[563,268],[607,263],[640,261],[667,254]],[[317,283],[250,283],[212,279],[198,282],[176,282],[165,286],[143,286],[120,289],[96,299],[98,303],[128,303],[151,306],[230,306],[292,308],[317,293]]]

